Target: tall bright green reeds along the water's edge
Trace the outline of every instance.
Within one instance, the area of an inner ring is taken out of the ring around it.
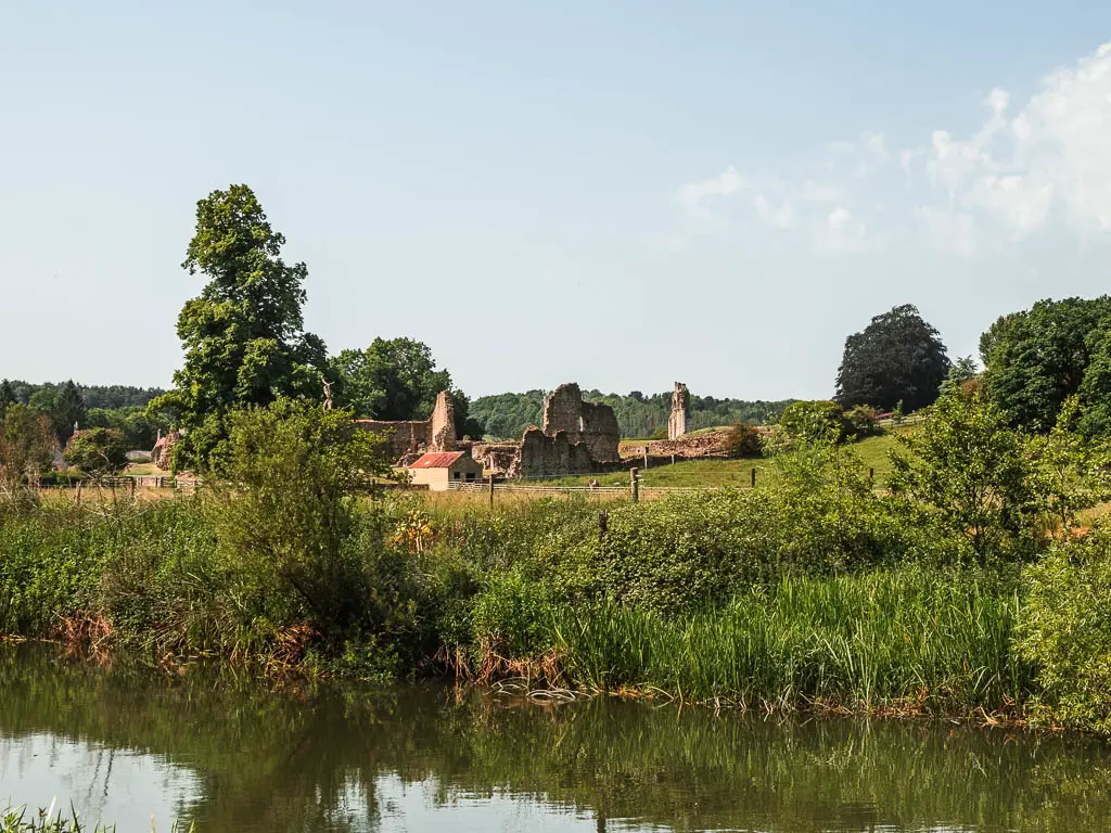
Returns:
[[[724,608],[669,619],[632,606],[551,612],[570,678],[598,689],[659,689],[793,706],[1005,709],[1031,671],[1010,650],[1013,593],[939,571],[784,578]]]

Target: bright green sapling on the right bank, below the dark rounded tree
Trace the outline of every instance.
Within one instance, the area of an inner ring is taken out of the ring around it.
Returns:
[[[994,402],[950,393],[922,429],[898,439],[909,453],[892,452],[892,494],[965,538],[981,563],[1038,543],[1035,469],[1025,438]]]

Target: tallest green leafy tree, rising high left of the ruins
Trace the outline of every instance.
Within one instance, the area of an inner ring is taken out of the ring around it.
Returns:
[[[197,203],[197,233],[182,267],[208,283],[178,318],[186,360],[174,390],[149,407],[179,422],[176,468],[209,468],[236,409],[322,397],[324,344],[304,332],[301,314],[308,269],[286,264],[284,243],[247,185]]]

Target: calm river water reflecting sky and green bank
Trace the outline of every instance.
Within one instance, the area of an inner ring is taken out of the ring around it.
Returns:
[[[121,833],[1111,830],[1111,745],[944,723],[541,707],[94,668],[0,645],[0,805]]]

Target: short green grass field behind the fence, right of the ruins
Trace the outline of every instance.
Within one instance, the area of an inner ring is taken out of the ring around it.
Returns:
[[[891,472],[890,452],[897,448],[895,432],[880,436],[869,436],[860,442],[851,443],[845,449],[849,454],[859,460],[860,469],[867,472],[873,469],[875,484],[880,488],[887,484]],[[630,459],[630,468],[637,465],[635,459]],[[757,470],[757,485],[769,483],[774,476],[772,465],[767,460],[689,460],[674,465],[641,468],[641,485],[643,486],[738,486],[747,488],[752,480],[752,470]],[[537,482],[543,485],[588,485],[597,480],[599,485],[628,485],[627,471],[610,474],[582,475],[573,478],[546,479]]]

